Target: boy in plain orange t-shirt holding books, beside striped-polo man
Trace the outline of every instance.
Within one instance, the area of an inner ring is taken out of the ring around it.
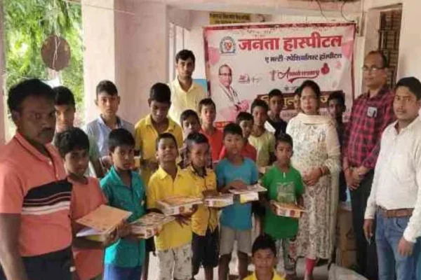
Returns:
[[[65,162],[68,180],[73,185],[70,218],[74,235],[83,226],[74,221],[86,216],[107,203],[98,179],[84,176],[89,164],[89,139],[83,130],[73,127],[55,137],[55,146]],[[74,264],[80,280],[102,279],[104,248],[116,236],[110,235],[104,243],[75,238],[73,241]]]

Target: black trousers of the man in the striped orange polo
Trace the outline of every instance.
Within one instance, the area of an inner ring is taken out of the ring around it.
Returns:
[[[70,280],[71,258],[72,250],[69,247],[44,255],[23,257],[22,261],[29,280]],[[0,280],[6,280],[1,269]]]

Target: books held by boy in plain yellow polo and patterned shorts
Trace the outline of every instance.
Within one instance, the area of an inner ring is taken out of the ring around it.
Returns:
[[[192,213],[194,205],[203,204],[200,197],[168,197],[157,202],[157,207],[166,216]]]

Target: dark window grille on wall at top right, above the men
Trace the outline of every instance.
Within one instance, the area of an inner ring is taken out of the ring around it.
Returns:
[[[387,60],[389,61],[389,74],[387,76],[387,82],[391,87],[396,85],[401,18],[401,8],[380,12],[379,50],[385,54]]]

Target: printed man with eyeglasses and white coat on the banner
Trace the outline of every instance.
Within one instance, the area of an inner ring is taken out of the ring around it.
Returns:
[[[218,71],[219,85],[216,87],[212,99],[218,109],[216,120],[234,122],[239,112],[246,112],[249,108],[247,100],[241,100],[239,93],[232,87],[232,69],[222,64]]]

